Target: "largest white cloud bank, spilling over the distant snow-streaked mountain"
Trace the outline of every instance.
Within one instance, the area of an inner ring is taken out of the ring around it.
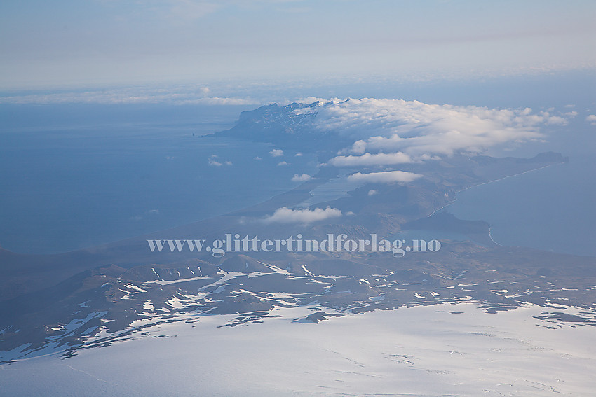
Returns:
[[[407,162],[407,156],[418,161],[422,156],[482,153],[496,145],[541,139],[540,125],[567,123],[560,116],[532,113],[529,108],[488,109],[398,99],[349,99],[294,112],[316,113],[316,127],[354,139],[340,154],[361,157],[338,156],[330,161],[336,165],[389,165]]]

